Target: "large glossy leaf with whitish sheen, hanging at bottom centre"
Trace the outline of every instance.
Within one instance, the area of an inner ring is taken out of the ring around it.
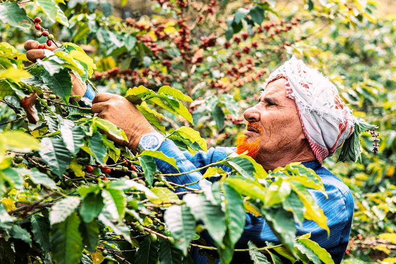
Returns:
[[[217,245],[222,245],[226,233],[225,215],[220,206],[214,206],[205,199],[204,195],[187,194],[183,201],[186,202],[197,221],[202,220]]]

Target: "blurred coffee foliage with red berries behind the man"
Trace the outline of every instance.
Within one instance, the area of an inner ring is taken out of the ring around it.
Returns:
[[[291,55],[318,68],[354,114],[381,133],[377,156],[363,135],[363,164],[336,163],[337,153],[324,164],[355,199],[344,263],[396,263],[394,0],[56,0],[68,22],[42,9],[45,2],[21,5],[33,17],[44,12],[43,24],[57,41],[74,42],[94,58],[99,91],[180,89],[193,98],[187,106],[194,128],[209,147],[234,144],[244,130],[243,110]],[[35,38],[34,30],[6,24],[0,32],[0,42],[20,51]],[[11,111],[0,107],[1,120],[8,120]],[[167,113],[163,118],[167,131],[188,124]]]

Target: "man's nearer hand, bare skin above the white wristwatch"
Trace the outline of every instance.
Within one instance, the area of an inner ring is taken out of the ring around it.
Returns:
[[[146,117],[128,100],[119,95],[99,93],[92,101],[92,112],[98,113],[100,118],[106,119],[125,131],[129,143],[112,138],[109,139],[126,145],[136,153],[140,138],[147,133],[155,132]]]

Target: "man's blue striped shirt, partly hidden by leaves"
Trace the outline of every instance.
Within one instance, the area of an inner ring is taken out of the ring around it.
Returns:
[[[95,92],[90,85],[87,85],[88,89],[84,97],[89,100],[94,99]],[[86,106],[82,101],[80,105]],[[162,143],[158,151],[163,152],[166,156],[175,158],[177,166],[180,172],[187,172],[202,167],[204,165],[213,163],[217,160],[227,157],[228,154],[232,153],[235,148],[224,148],[217,147],[209,149],[208,153],[196,153],[195,156],[189,152],[181,152],[178,147],[171,141],[166,140]],[[169,163],[156,159],[155,160],[158,169],[162,173],[177,173],[177,171]],[[326,167],[321,166],[317,161],[303,162],[308,168],[313,169],[317,175],[319,175],[324,184],[328,199],[323,195],[322,192],[309,189],[309,193],[314,198],[318,206],[324,211],[327,216],[327,225],[330,229],[330,237],[327,236],[326,230],[320,228],[314,221],[305,220],[302,226],[296,225],[297,235],[303,235],[311,233],[311,239],[317,242],[321,247],[325,248],[332,256],[336,264],[341,263],[347,249],[349,241],[349,233],[352,225],[353,216],[353,197],[348,187],[334,174],[332,174]],[[230,167],[222,166],[222,168],[229,172]],[[167,181],[176,184],[186,184],[200,181],[201,184],[211,184],[218,180],[218,178],[210,178],[210,181],[201,180],[202,174],[205,173],[206,169],[201,171],[192,172],[186,175],[178,177],[166,177]],[[189,185],[191,188],[200,189],[198,183]],[[177,188],[176,191],[183,191],[182,188]],[[206,233],[207,234],[207,233]],[[203,233],[203,236],[205,233]],[[208,244],[213,242],[209,236],[206,236]],[[250,213],[246,214],[246,225],[245,230],[236,244],[236,248],[247,248],[247,242],[251,240],[254,244],[261,246],[265,245],[265,241],[279,244],[279,240],[276,238],[274,233],[271,231],[268,224],[265,223],[263,217],[256,217]],[[196,264],[206,264],[206,256],[200,256],[197,248],[192,248],[191,256]],[[245,260],[241,262],[249,262],[248,255],[245,256]],[[235,259],[235,258],[234,258]],[[216,261],[217,263],[218,260]]]

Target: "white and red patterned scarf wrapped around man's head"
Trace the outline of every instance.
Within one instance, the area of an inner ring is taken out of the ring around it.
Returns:
[[[305,138],[322,163],[353,133],[355,117],[334,84],[295,56],[271,73],[264,89],[279,77],[286,78],[286,96],[296,102]]]

